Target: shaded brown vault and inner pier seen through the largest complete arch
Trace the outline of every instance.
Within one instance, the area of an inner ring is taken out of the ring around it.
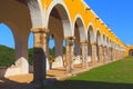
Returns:
[[[58,26],[58,27],[57,27]],[[66,10],[62,4],[57,4],[52,8],[49,16],[49,36],[54,37],[55,43],[55,62],[54,67],[63,67],[63,40],[65,37],[71,36],[71,24],[66,13]],[[49,37],[48,37],[49,38]],[[49,52],[48,52],[49,56]],[[48,57],[49,58],[49,57]]]

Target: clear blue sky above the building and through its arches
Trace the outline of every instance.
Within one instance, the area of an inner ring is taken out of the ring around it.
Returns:
[[[91,9],[125,43],[133,44],[133,0],[84,0]],[[0,24],[0,44],[14,48],[13,37],[4,24]],[[29,47],[33,47],[30,34]],[[53,40],[50,41],[53,47]]]

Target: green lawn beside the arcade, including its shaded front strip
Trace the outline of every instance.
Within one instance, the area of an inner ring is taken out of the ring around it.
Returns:
[[[133,89],[133,57],[54,82],[47,89]]]

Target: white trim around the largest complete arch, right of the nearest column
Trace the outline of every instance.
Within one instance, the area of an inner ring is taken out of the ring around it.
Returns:
[[[63,2],[63,0],[53,0],[49,7],[49,9],[47,10],[47,16],[45,16],[45,28],[49,29],[49,18],[50,18],[50,13],[53,10],[53,8],[55,6],[61,6],[65,12],[66,12],[66,18],[64,19],[64,17],[62,16],[62,22],[63,22],[63,30],[64,30],[64,37],[71,37],[72,36],[72,21],[71,21],[71,17],[69,13],[69,10],[65,6],[65,3]]]

